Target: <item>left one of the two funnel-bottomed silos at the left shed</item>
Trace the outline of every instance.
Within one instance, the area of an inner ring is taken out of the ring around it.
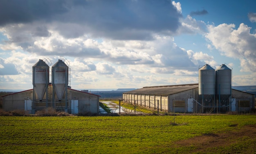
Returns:
[[[32,66],[32,74],[33,89],[36,91],[38,100],[42,102],[45,91],[47,91],[49,85],[49,66],[42,59],[39,59],[39,61]],[[35,101],[35,99],[34,97],[33,100]],[[46,102],[47,100],[48,95],[46,95]]]

